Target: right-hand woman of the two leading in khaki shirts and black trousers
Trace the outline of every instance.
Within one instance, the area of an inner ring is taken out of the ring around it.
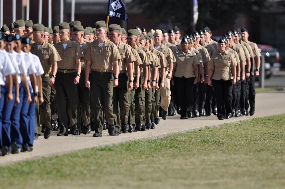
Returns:
[[[231,117],[232,90],[237,77],[237,61],[234,55],[225,49],[225,42],[225,37],[218,41],[219,50],[211,57],[208,75],[208,85],[213,85],[215,90],[219,120]]]

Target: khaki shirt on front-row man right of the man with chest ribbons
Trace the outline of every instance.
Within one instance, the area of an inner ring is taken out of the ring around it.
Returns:
[[[83,57],[80,45],[72,41],[68,41],[66,48],[64,49],[62,42],[54,45],[61,61],[58,61],[58,69],[76,69],[76,60]]]

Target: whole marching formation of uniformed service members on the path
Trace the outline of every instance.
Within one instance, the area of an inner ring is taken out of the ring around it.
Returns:
[[[219,120],[255,113],[260,52],[245,28],[218,42],[208,27],[166,30],[17,20],[0,34],[0,155],[34,139],[154,129],[160,117]],[[249,109],[250,108],[250,109]]]

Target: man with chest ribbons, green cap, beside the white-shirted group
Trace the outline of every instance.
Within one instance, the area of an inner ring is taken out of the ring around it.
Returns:
[[[44,138],[48,139],[51,131],[50,125],[52,115],[50,108],[52,91],[51,85],[54,84],[57,63],[61,60],[61,58],[54,46],[44,40],[44,25],[33,25],[33,37],[35,43],[32,44],[30,53],[39,57],[44,69],[44,74],[42,75],[42,93],[44,102],[42,105],[40,105],[40,124],[42,124],[42,127],[45,128]]]

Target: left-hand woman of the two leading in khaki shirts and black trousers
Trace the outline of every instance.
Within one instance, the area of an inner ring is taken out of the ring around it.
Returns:
[[[198,81],[199,60],[194,52],[189,50],[189,41],[186,37],[181,41],[182,50],[174,56],[172,85],[175,83],[178,101],[180,104],[180,119],[187,119],[193,108],[193,87]]]

